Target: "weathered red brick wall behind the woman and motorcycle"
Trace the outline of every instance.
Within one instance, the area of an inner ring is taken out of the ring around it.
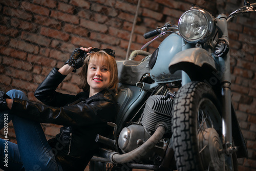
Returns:
[[[0,90],[19,89],[30,100],[33,92],[53,67],[61,67],[80,46],[112,48],[124,59],[129,44],[137,0],[0,0]],[[251,3],[255,3],[251,1]],[[167,21],[178,23],[181,14],[197,4],[211,14],[230,13],[242,1],[143,0],[133,35],[132,50],[146,42],[143,33]],[[240,170],[256,170],[256,14],[241,15],[228,25],[231,47],[232,101],[247,142],[248,159],[239,159]],[[154,41],[147,51],[160,44]],[[75,94],[77,73],[59,86]],[[10,124],[11,127],[11,124]],[[44,124],[47,137],[58,126]],[[2,133],[2,132],[1,132]],[[9,131],[10,139],[14,131]],[[15,142],[15,139],[11,139]]]

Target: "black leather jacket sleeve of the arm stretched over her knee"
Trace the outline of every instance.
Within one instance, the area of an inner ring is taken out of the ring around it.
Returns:
[[[32,103],[26,100],[13,99],[11,114],[41,123],[82,126],[102,124],[112,121],[115,103],[111,101],[93,101],[90,104],[83,101],[60,108]]]

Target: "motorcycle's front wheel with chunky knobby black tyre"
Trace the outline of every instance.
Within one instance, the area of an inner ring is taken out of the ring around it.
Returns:
[[[220,101],[203,82],[189,82],[174,99],[176,165],[184,170],[226,170]]]

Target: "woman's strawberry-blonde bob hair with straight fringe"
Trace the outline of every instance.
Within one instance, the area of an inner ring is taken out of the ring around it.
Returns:
[[[99,52],[93,52],[89,54],[86,59],[84,59],[84,65],[82,67],[82,71],[80,72],[80,83],[78,84],[78,87],[82,89],[83,91],[89,91],[90,86],[87,82],[87,72],[88,72],[88,65],[89,62],[100,62],[104,65],[108,66],[110,70],[110,83],[106,87],[111,93],[116,94],[118,91],[118,72],[117,72],[117,65],[116,60],[113,56],[109,55],[108,53],[104,51]]]

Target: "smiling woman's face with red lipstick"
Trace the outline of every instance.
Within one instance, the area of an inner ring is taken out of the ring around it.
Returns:
[[[91,95],[104,90],[110,83],[109,67],[102,62],[90,61],[88,65],[87,82],[90,86]]]

